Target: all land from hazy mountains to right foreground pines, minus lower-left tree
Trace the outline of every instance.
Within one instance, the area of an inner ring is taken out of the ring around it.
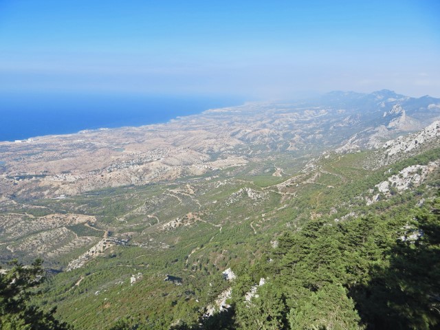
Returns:
[[[0,264],[76,329],[434,329],[439,146],[388,90],[0,142]]]

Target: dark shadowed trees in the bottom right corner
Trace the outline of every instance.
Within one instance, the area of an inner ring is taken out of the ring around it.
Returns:
[[[426,211],[417,220],[423,235],[415,241],[399,241],[389,253],[389,267],[373,268],[368,285],[350,290],[366,329],[438,329],[440,325],[439,209]]]

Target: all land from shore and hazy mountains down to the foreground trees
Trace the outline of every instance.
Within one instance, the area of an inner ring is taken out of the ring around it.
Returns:
[[[234,281],[264,288],[243,264],[283,232],[432,200],[439,119],[439,99],[333,92],[0,142],[0,264],[43,258],[39,301],[78,329],[206,320]]]

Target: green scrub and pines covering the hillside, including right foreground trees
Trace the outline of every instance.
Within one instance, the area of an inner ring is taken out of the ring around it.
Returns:
[[[372,155],[329,153],[314,170],[301,173],[292,165],[283,177],[272,176],[267,162],[199,181],[17,205],[14,212],[34,216],[96,217],[67,227],[92,243],[47,267],[63,270],[104,232],[129,239],[83,267],[50,276],[30,303],[50,315],[58,307],[54,315],[75,329],[435,329],[439,175],[389,195],[375,185],[439,159],[440,149],[368,170],[362,164]],[[375,194],[379,199],[367,205]],[[164,229],[176,219],[184,224]],[[221,274],[229,267],[234,281]],[[167,274],[181,283],[164,281]],[[133,275],[139,278],[131,285]],[[229,287],[230,307],[203,317]]]

